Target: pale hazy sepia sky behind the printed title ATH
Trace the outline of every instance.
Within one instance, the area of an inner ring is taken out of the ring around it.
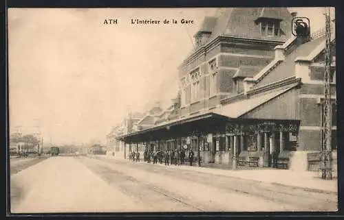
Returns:
[[[289,8],[324,27],[323,8]],[[10,132],[40,132],[54,144],[105,143],[127,114],[178,90],[178,65],[215,8],[11,8],[8,10]],[[332,16],[334,13],[332,13]],[[105,25],[117,19],[117,25]],[[131,25],[164,19],[177,25]],[[193,20],[180,24],[181,19]],[[193,39],[192,39],[193,40]]]

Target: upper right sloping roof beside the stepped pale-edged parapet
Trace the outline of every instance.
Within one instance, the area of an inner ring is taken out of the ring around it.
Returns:
[[[263,86],[266,84],[270,84],[272,82],[276,82],[277,80],[283,80],[288,77],[292,77],[295,75],[295,59],[297,57],[308,56],[316,46],[320,45],[323,42],[324,37],[316,38],[311,40],[310,42],[306,42],[303,45],[300,45],[292,53],[290,53],[286,58],[275,67],[268,75],[266,75],[260,82],[255,84],[254,87]]]

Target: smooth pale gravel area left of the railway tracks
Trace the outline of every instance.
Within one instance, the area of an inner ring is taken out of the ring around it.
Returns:
[[[136,206],[72,157],[49,158],[12,175],[11,184],[22,192],[11,203],[13,213],[130,212]]]

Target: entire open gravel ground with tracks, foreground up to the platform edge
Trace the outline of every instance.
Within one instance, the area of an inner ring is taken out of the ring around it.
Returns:
[[[12,212],[336,210],[336,195],[224,175],[87,157],[49,158],[11,176]]]

